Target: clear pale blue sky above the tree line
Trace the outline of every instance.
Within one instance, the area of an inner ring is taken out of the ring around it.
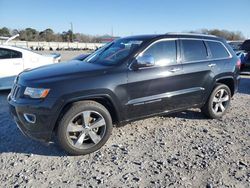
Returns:
[[[250,0],[0,0],[0,27],[127,36],[227,29],[250,38]]]

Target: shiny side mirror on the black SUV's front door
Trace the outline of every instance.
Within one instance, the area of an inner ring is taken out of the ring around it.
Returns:
[[[155,65],[154,57],[151,55],[142,55],[136,58],[136,61],[133,62],[132,68],[139,69],[142,67],[152,67]]]

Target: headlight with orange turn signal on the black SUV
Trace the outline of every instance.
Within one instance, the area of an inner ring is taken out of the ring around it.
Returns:
[[[26,87],[24,95],[29,96],[33,99],[43,99],[47,97],[49,91],[50,89]]]

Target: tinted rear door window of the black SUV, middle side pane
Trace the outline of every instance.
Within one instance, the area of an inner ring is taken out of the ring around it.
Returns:
[[[201,40],[182,40],[184,61],[207,59],[207,48]]]

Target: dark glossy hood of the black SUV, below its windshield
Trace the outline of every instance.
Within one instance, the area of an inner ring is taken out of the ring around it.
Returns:
[[[34,81],[39,83],[46,80],[63,80],[73,79],[75,77],[96,76],[105,73],[107,69],[110,69],[110,67],[72,60],[25,70],[19,75],[18,79],[24,82]]]

